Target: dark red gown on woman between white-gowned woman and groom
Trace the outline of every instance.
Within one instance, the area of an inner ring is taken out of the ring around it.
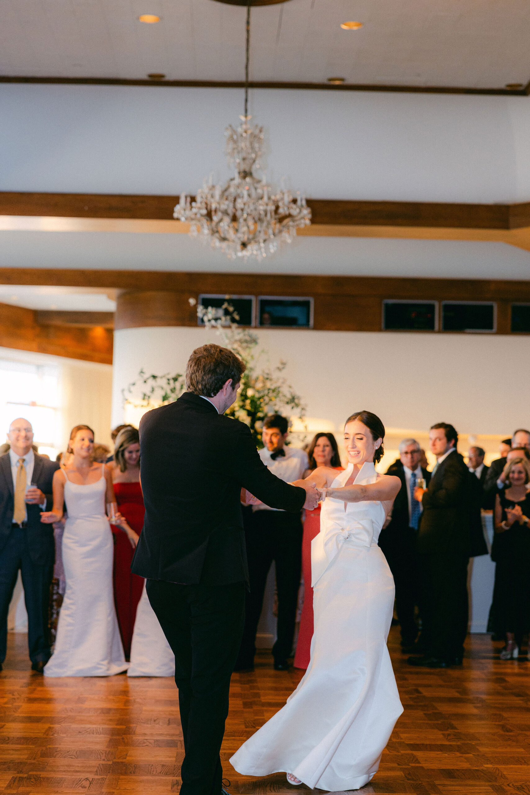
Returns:
[[[119,512],[125,516],[134,532],[140,535],[145,514],[140,483],[114,483],[114,494]],[[113,525],[111,529],[114,533],[114,604],[122,634],[123,650],[129,659],[136,608],[144,587],[144,579],[130,570],[134,550],[126,533]]]

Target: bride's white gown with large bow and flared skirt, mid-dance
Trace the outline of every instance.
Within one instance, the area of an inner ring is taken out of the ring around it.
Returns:
[[[352,471],[350,464],[333,486]],[[354,483],[376,480],[373,463],[364,463]],[[403,712],[386,646],[394,581],[377,546],[384,521],[381,502],[323,502],[311,544],[311,661],[284,708],[230,759],[239,773],[284,771],[333,792],[359,789],[376,773]]]

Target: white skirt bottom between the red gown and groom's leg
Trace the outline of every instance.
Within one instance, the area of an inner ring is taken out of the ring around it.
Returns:
[[[175,655],[172,653],[160,622],[144,590],[138,602],[130,645],[128,677],[174,677]]]

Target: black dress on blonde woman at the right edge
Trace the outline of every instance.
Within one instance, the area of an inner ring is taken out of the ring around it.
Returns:
[[[524,516],[530,517],[530,495],[514,502],[506,497],[504,490],[498,494],[502,522],[507,518],[506,508],[516,505],[520,505]],[[523,635],[530,629],[530,527],[514,522],[508,530],[496,532],[491,556],[497,563],[498,629],[513,632],[520,646]]]

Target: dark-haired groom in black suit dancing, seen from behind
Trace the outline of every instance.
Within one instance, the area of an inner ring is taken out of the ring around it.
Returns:
[[[223,414],[245,364],[219,345],[196,348],[179,399],[142,417],[145,523],[131,566],[175,653],[184,762],[180,795],[222,795],[219,750],[248,584],[240,493],[272,508],[315,508],[319,493],[273,475],[250,429]]]

